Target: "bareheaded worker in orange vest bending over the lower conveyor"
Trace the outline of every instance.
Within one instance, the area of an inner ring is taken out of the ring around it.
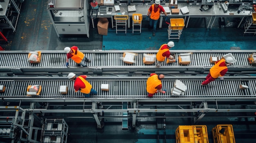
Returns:
[[[148,80],[147,80],[148,97],[153,97],[153,95],[157,92],[165,93],[165,91],[162,90],[162,82],[161,82],[162,79],[164,79],[163,74],[160,74],[160,75],[157,75],[156,73],[150,74],[150,77],[148,77]]]

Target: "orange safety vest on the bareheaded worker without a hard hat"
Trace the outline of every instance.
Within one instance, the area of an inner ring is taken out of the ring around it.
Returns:
[[[147,92],[154,94],[157,92],[157,86],[162,84],[161,80],[158,79],[158,75],[152,75],[151,77],[148,77],[147,80]]]

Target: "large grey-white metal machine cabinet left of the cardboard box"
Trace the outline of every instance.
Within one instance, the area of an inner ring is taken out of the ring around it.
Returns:
[[[86,0],[48,0],[47,7],[59,38],[89,37],[88,9]]]

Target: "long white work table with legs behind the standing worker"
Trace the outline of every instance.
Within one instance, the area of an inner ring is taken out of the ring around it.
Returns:
[[[119,4],[116,4],[119,5]],[[139,13],[142,14],[143,17],[146,17],[147,13],[148,13],[148,9],[151,6],[151,3],[131,3],[131,5],[135,5],[136,7],[136,11],[133,12],[128,12],[128,6],[127,5],[120,5],[120,11],[115,11],[114,6],[100,6],[99,9],[101,7],[107,7],[107,12],[108,12],[108,8],[112,7],[112,12],[110,14],[108,13],[98,13],[97,18],[101,18],[101,17],[106,17],[106,18],[111,18],[112,20],[112,28],[113,28],[113,16],[117,15],[117,13],[121,13],[122,15],[128,15],[128,28],[130,28],[130,19],[132,18],[132,14],[134,13]],[[165,5],[161,4],[163,7],[168,7],[168,3],[166,2]],[[241,22],[243,21],[243,19],[245,17],[249,17],[252,16],[252,12],[249,10],[244,10],[241,11],[239,14],[237,13],[238,9],[241,8],[241,6],[239,8],[228,8],[228,11],[225,13],[222,9],[222,7],[219,9],[218,7],[218,3],[215,2],[213,4],[212,7],[209,7],[209,9],[207,10],[203,10],[201,8],[201,3],[197,3],[197,4],[187,4],[187,3],[178,3],[178,9],[182,8],[182,7],[187,7],[189,10],[189,13],[186,14],[182,14],[182,12],[180,11],[179,14],[171,14],[167,13],[169,18],[184,18],[184,22],[185,22],[185,26],[187,27],[189,24],[189,20],[190,18],[210,18],[209,23],[207,24],[207,29],[209,28],[209,26],[211,25],[210,28],[212,28],[214,21],[216,20],[216,18],[218,17],[238,17],[241,18],[240,23],[238,24],[238,27],[240,26]],[[202,11],[201,11],[201,10]],[[170,9],[171,11],[171,9]],[[96,15],[94,16],[94,18],[96,17]],[[214,18],[213,18],[214,17]],[[163,18],[165,18],[164,13],[161,14],[160,19],[159,19],[159,28],[162,28],[162,23],[163,23]],[[213,20],[212,20],[213,19]],[[92,24],[93,24],[93,19],[92,19]]]

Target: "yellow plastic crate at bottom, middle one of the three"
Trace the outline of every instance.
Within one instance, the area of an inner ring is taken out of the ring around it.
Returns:
[[[209,143],[206,125],[193,125],[195,143]]]

